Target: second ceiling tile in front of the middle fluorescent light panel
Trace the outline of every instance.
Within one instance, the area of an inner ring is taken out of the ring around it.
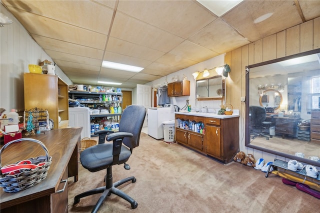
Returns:
[[[149,61],[156,60],[162,54],[164,54],[164,52],[162,51],[158,51],[143,45],[131,43],[114,37],[109,38],[106,50]]]

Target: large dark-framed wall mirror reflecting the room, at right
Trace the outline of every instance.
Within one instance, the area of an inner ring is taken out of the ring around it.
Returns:
[[[248,65],[245,90],[245,145],[320,166],[320,49]]]

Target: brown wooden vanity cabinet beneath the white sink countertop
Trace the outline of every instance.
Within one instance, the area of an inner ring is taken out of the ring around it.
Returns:
[[[202,131],[198,132],[189,123],[202,123]],[[239,151],[239,117],[214,118],[175,113],[175,141],[228,163]]]

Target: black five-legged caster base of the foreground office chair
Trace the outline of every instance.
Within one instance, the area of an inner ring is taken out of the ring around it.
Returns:
[[[103,203],[103,200],[105,200],[105,198],[107,196],[109,196],[109,195],[111,195],[111,193],[113,193],[115,195],[122,197],[126,201],[128,201],[131,204],[131,208],[136,208],[138,206],[138,203],[132,197],[130,197],[129,195],[127,195],[126,193],[124,193],[123,191],[121,191],[120,189],[117,188],[117,186],[119,186],[125,182],[128,182],[128,181],[135,182],[136,178],[134,176],[130,176],[130,177],[121,179],[121,180],[113,183],[112,182],[112,167],[110,166],[106,170],[107,170],[107,172],[106,172],[106,178],[105,178],[105,186],[93,188],[91,190],[88,190],[88,191],[85,191],[85,192],[82,192],[82,193],[76,195],[74,197],[73,204],[78,203],[80,201],[80,198],[82,198],[82,197],[89,196],[92,194],[102,193],[100,198],[96,202],[94,208],[91,211],[91,212],[97,212],[97,210],[99,209],[99,207]]]

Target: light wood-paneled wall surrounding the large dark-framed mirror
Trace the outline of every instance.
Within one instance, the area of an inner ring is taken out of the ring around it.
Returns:
[[[226,103],[231,103],[233,108],[240,109],[240,150],[245,153],[253,153],[256,159],[263,157],[264,160],[273,161],[275,157],[278,157],[244,145],[245,104],[240,101],[240,97],[245,96],[245,66],[317,48],[320,48],[320,17],[269,35],[225,54],[225,62],[231,67],[230,77],[227,78],[226,84]]]

